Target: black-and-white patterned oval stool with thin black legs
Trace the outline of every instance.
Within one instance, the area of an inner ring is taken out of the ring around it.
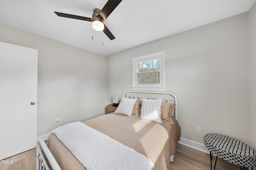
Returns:
[[[204,145],[210,150],[211,169],[212,169],[212,154],[217,155],[217,158],[222,158],[227,162],[238,165],[243,168],[253,168],[256,166],[256,152],[245,143],[234,138],[208,133],[204,135]]]

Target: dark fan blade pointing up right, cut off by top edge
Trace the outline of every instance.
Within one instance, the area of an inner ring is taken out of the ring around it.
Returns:
[[[108,0],[105,6],[100,11],[100,16],[106,20],[108,16],[114,11],[114,9],[122,2],[122,0]]]

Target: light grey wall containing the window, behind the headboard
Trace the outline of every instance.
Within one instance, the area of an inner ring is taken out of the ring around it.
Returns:
[[[108,104],[132,90],[132,57],[163,50],[181,137],[203,143],[220,133],[249,143],[248,12],[108,56]]]

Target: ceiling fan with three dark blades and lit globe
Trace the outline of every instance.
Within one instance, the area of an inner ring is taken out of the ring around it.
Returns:
[[[65,14],[61,12],[55,12],[57,16],[65,17],[65,18],[73,18],[76,20],[84,20],[92,22],[92,27],[97,31],[102,31],[108,36],[110,40],[115,39],[114,35],[109,31],[109,29],[104,24],[104,21],[108,18],[108,16],[114,11],[114,9],[122,2],[122,0],[108,0],[105,6],[100,9],[94,9],[92,18],[76,16],[72,14]]]

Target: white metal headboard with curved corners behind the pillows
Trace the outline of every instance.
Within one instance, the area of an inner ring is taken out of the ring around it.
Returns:
[[[132,95],[134,94],[134,95]],[[142,96],[143,95],[143,96]],[[145,96],[144,96],[145,95]],[[165,97],[165,98],[163,98]],[[126,94],[126,98],[135,99],[137,98],[139,101],[142,100],[142,98],[146,99],[163,99],[163,102],[173,102],[176,104],[174,107],[174,117],[177,119],[177,98],[174,94],[169,92],[146,92],[146,91],[130,91]]]

